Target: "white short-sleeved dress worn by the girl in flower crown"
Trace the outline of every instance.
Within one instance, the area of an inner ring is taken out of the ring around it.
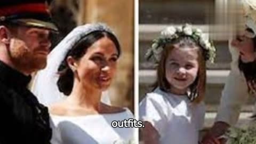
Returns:
[[[160,135],[160,143],[198,144],[203,128],[204,103],[192,104],[186,95],[166,93],[159,88],[140,102],[140,120],[150,122]]]

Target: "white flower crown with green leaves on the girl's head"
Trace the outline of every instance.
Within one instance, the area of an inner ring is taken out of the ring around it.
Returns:
[[[182,27],[167,27],[161,31],[161,36],[153,40],[152,46],[148,49],[145,57],[147,60],[153,58],[156,63],[161,59],[162,52],[167,43],[173,42],[182,36],[189,36],[195,40],[197,44],[203,49],[203,55],[206,61],[214,63],[216,56],[215,47],[209,40],[205,40],[202,36],[201,29],[192,28],[191,25],[184,25]]]

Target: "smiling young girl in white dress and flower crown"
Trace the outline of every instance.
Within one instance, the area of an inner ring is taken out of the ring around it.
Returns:
[[[215,48],[190,25],[167,27],[146,57],[157,63],[157,81],[139,106],[143,141],[197,144],[205,114],[205,62],[213,61]]]

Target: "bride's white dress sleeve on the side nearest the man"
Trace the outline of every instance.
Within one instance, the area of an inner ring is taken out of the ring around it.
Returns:
[[[62,144],[61,132],[59,130],[58,125],[55,125],[51,118],[50,118],[50,124],[51,124],[51,127],[52,127],[51,144]]]

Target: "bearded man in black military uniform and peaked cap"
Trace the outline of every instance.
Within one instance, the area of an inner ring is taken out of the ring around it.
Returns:
[[[27,89],[57,31],[46,0],[0,1],[0,143],[50,143],[49,113]]]

